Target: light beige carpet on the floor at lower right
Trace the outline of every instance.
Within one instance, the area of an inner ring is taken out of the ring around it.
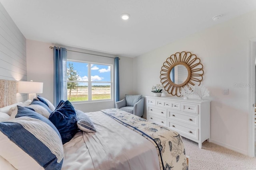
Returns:
[[[214,143],[198,143],[183,138],[189,170],[256,170],[256,158],[240,154]]]

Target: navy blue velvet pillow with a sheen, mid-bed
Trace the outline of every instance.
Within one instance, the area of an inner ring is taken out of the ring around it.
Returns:
[[[77,132],[76,111],[68,100],[50,114],[49,120],[58,129],[62,144],[70,141]]]

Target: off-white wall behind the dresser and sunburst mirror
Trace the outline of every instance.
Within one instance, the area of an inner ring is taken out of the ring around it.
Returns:
[[[170,55],[181,51],[196,54],[204,65],[202,84],[211,93],[211,141],[248,154],[249,87],[234,84],[249,82],[249,39],[256,37],[255,21],[256,11],[250,12],[136,57],[135,92],[151,95],[151,87],[160,83],[162,64]],[[229,89],[229,95],[223,95],[223,89]]]

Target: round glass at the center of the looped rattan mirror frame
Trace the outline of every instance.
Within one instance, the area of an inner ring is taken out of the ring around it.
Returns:
[[[182,84],[188,78],[188,69],[184,65],[176,65],[170,72],[170,79],[175,84]]]

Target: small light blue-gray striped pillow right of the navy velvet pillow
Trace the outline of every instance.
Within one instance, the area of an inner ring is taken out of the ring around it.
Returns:
[[[82,111],[76,110],[77,126],[84,132],[96,132],[91,119]]]

